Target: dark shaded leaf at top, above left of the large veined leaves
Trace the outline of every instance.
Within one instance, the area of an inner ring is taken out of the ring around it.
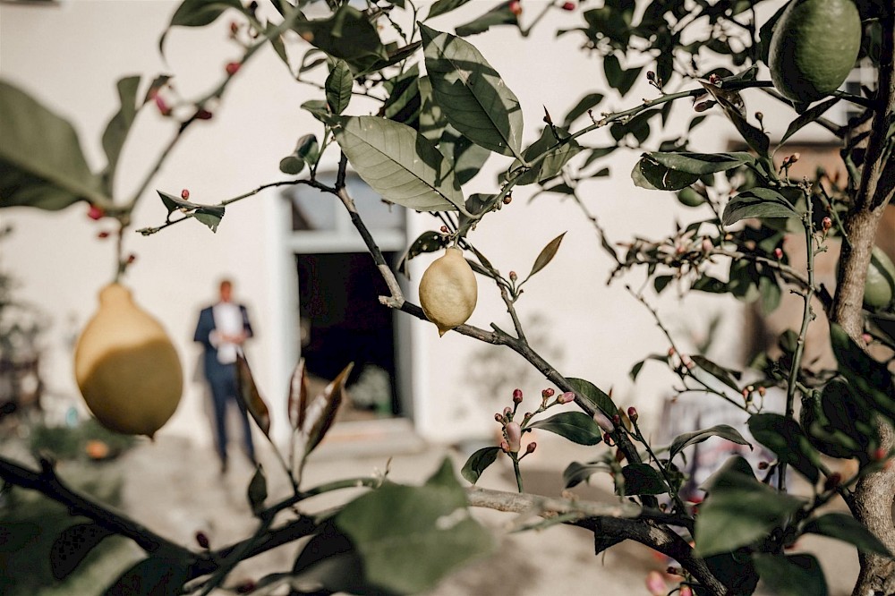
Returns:
[[[376,27],[364,13],[348,4],[342,4],[327,19],[298,21],[293,30],[313,47],[345,60],[358,70],[388,59]]]

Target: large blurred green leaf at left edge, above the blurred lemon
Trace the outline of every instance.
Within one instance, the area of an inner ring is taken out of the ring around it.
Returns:
[[[0,131],[0,207],[55,211],[78,200],[109,202],[72,124],[5,81],[0,81]]]

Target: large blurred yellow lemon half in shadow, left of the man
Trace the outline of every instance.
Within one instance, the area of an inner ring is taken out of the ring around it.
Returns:
[[[99,293],[99,310],[75,347],[74,375],[103,426],[149,438],[175,413],[183,390],[180,359],[165,329],[119,284]]]

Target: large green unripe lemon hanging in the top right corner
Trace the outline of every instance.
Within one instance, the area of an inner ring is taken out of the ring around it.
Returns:
[[[791,0],[771,36],[771,80],[793,101],[824,98],[855,67],[860,47],[861,17],[852,0]]]

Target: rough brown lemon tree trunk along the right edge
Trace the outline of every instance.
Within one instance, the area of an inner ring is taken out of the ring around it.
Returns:
[[[891,8],[882,18],[882,55],[876,113],[867,140],[861,181],[846,221],[848,243],[843,243],[840,273],[831,320],[839,323],[848,335],[858,341],[864,331],[861,313],[867,267],[870,264],[874,236],[882,211],[891,201],[895,175],[892,158],[886,158],[890,123],[895,118],[895,75],[892,55],[895,51],[895,13]],[[895,396],[892,396],[895,398]],[[879,425],[882,447],[895,447],[895,433],[882,422]],[[849,506],[856,519],[874,532],[883,544],[895,552],[895,465],[867,474],[857,484]],[[895,559],[872,554],[859,554],[861,565],[852,596],[895,596]]]

